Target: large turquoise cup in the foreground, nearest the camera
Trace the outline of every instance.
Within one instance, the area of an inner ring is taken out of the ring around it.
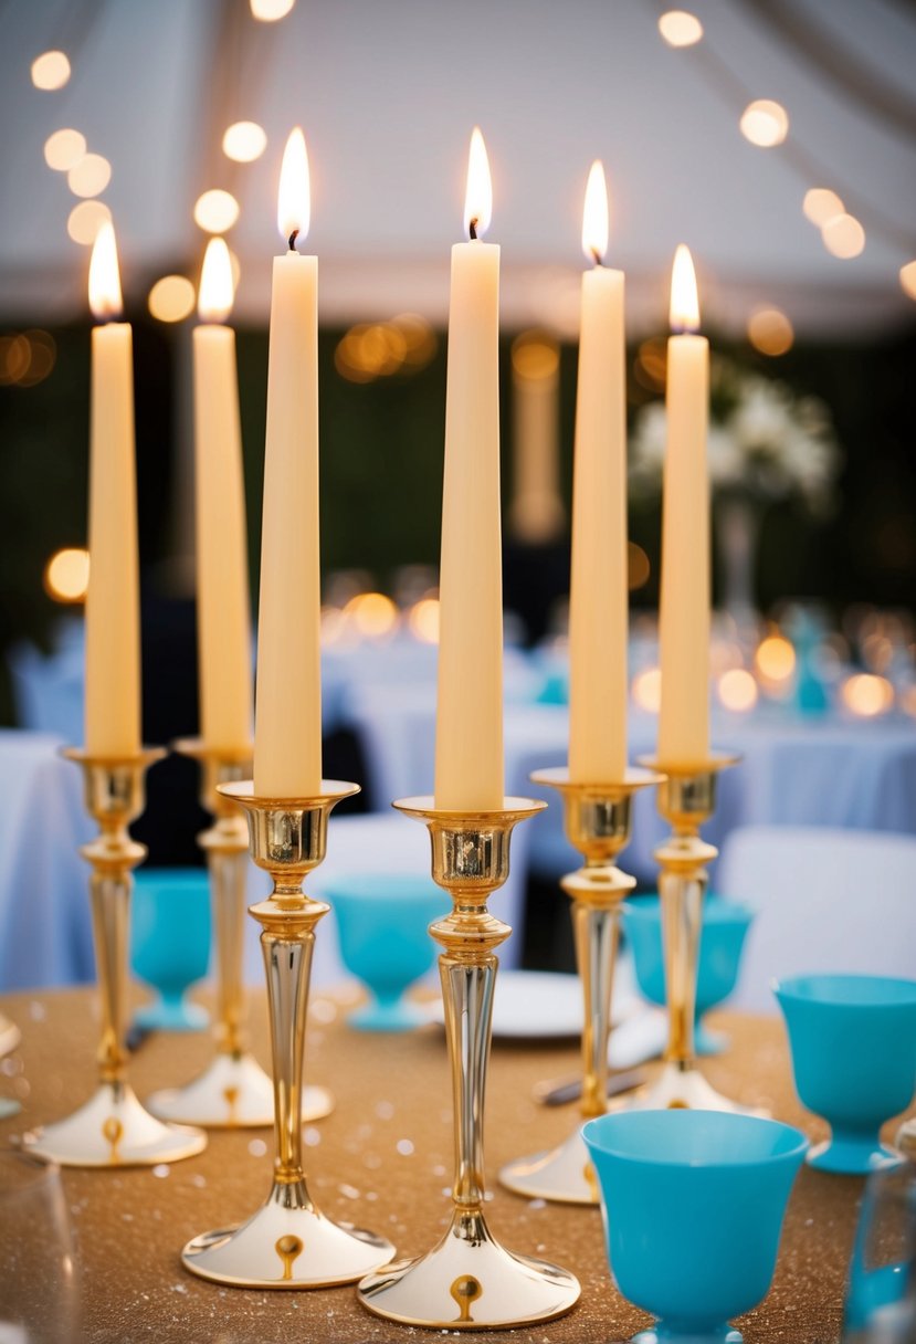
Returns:
[[[755,1116],[618,1111],[583,1128],[611,1271],[658,1317],[641,1344],[740,1344],[728,1321],[770,1292],[807,1140]]]

